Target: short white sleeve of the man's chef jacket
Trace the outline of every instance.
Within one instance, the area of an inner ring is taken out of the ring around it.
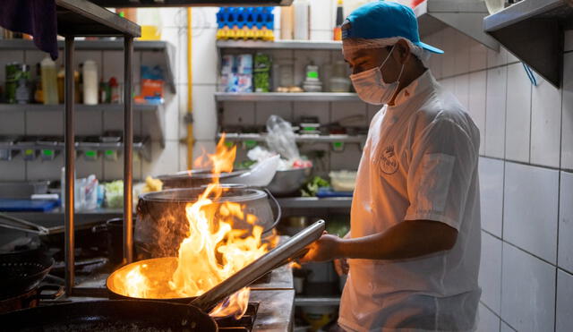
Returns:
[[[447,118],[434,120],[420,133],[411,148],[405,220],[434,220],[459,230],[470,185],[475,183],[477,140]]]

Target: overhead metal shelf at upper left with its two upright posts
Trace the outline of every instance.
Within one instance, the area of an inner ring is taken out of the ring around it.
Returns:
[[[31,19],[31,18],[30,18]],[[74,243],[74,38],[110,36],[124,38],[124,261],[133,261],[133,38],[141,36],[141,27],[132,21],[86,0],[56,0],[57,34],[64,36],[64,258],[65,293],[75,288]]]

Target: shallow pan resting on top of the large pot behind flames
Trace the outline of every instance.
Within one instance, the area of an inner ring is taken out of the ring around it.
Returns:
[[[173,175],[159,175],[158,179],[163,183],[164,189],[197,188],[201,187],[201,185],[213,183],[215,177],[218,177],[219,180],[224,183],[228,179],[242,175],[245,172],[247,171],[238,170],[214,175],[210,169],[193,169],[190,171],[177,172]]]

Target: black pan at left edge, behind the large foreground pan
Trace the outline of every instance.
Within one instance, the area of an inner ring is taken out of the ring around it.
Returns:
[[[46,277],[54,260],[44,251],[6,253],[0,256],[0,299],[26,293]]]

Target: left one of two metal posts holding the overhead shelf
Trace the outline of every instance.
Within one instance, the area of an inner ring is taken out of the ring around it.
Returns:
[[[64,143],[65,143],[65,294],[72,295],[75,282],[74,264],[74,234],[73,234],[73,188],[75,185],[75,142],[74,142],[74,119],[73,119],[73,36],[65,37],[65,93],[64,93]]]

